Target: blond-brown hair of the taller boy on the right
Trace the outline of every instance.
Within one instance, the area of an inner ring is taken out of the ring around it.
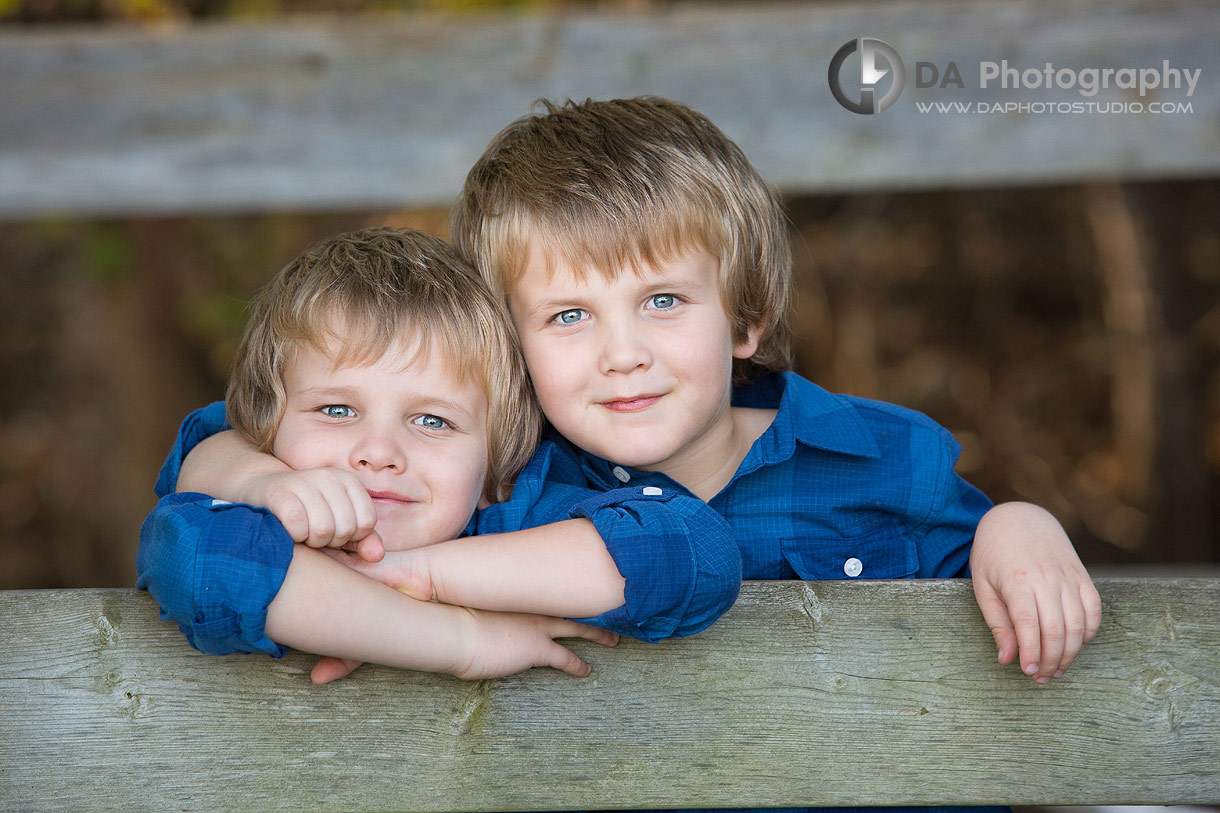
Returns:
[[[791,366],[792,254],[778,199],[720,129],[689,107],[642,96],[555,105],[492,139],[453,209],[454,244],[504,295],[531,237],[548,265],[612,278],[692,248],[720,260],[734,339],[759,328],[734,378]]]

